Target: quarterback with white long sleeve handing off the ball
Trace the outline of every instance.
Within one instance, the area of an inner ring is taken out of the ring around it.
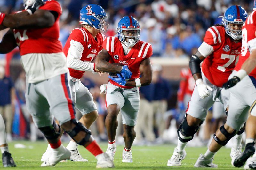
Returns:
[[[79,120],[86,128],[90,128],[97,119],[98,112],[93,102],[92,94],[81,83],[80,78],[85,71],[95,73],[95,63],[91,63],[94,57],[102,50],[102,42],[106,38],[101,32],[106,32],[104,26],[108,26],[104,19],[108,18],[104,9],[96,4],[88,4],[80,10],[81,28],[76,28],[70,33],[63,52],[67,57],[67,66],[70,72],[68,83],[71,87],[72,100],[75,107],[83,115]],[[88,20],[91,22],[88,22]],[[78,144],[71,140],[67,149],[71,152],[69,160],[87,162],[77,149]],[[45,161],[51,154],[50,146],[43,154],[41,161]],[[110,161],[110,164],[113,164]]]

